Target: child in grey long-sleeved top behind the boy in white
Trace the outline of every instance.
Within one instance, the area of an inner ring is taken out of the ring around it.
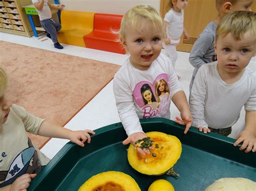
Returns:
[[[252,11],[251,7],[254,0],[215,0],[218,16],[211,21],[199,35],[190,52],[189,61],[194,67],[190,81],[190,93],[196,77],[197,70],[205,63],[216,60],[214,53],[214,40],[216,27],[220,20],[231,11]]]

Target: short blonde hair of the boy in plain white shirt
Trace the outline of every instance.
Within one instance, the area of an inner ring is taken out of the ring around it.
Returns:
[[[244,34],[250,31],[252,36],[256,36],[256,13],[251,11],[234,11],[228,13],[217,26],[215,41],[219,36],[225,37],[231,33],[235,40],[241,40]]]

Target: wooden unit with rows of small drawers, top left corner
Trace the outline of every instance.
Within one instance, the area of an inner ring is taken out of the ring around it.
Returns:
[[[0,0],[0,32],[31,37],[32,29],[22,6],[31,0]]]

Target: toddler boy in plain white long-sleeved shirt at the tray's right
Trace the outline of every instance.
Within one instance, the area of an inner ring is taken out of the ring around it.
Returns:
[[[245,130],[234,146],[256,151],[256,73],[246,68],[256,52],[256,13],[234,11],[217,27],[218,61],[199,68],[190,97],[193,126],[228,136],[245,106]]]

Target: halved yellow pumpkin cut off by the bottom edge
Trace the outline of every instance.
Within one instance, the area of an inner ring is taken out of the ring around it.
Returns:
[[[128,174],[108,171],[96,174],[88,179],[78,191],[140,191],[136,181]]]

